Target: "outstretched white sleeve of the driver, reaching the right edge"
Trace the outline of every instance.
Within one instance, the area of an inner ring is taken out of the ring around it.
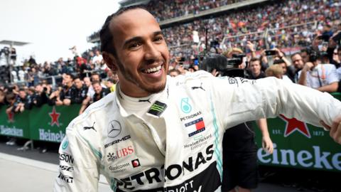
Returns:
[[[322,127],[320,119],[331,125],[341,112],[341,102],[330,94],[277,78],[212,81],[215,107],[226,128],[278,114]]]

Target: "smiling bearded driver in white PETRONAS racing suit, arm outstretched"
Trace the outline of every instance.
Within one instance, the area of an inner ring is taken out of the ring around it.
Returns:
[[[100,38],[117,91],[67,127],[55,191],[97,191],[100,173],[113,191],[219,191],[224,129],[279,113],[323,123],[341,143],[341,102],[328,94],[275,78],[167,78],[166,42],[144,9],[121,8]]]

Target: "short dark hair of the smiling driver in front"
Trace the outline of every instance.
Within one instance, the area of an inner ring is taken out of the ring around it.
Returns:
[[[99,39],[101,41],[101,51],[106,51],[107,53],[112,53],[114,56],[116,56],[116,50],[114,48],[114,44],[112,41],[112,32],[110,31],[110,21],[112,21],[112,18],[115,18],[121,14],[123,14],[126,11],[132,10],[132,9],[144,9],[147,11],[146,7],[137,5],[137,6],[125,6],[121,7],[117,12],[114,14],[111,14],[107,17],[105,20],[101,30],[99,31]]]

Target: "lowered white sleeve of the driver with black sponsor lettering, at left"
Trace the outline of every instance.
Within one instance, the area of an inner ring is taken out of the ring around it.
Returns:
[[[59,174],[53,191],[97,191],[100,152],[72,128],[67,128],[60,144]]]

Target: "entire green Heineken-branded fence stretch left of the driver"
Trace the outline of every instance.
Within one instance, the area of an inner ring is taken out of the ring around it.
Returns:
[[[80,105],[33,107],[23,113],[6,114],[0,109],[0,134],[47,142],[61,142],[65,128],[77,117]]]

